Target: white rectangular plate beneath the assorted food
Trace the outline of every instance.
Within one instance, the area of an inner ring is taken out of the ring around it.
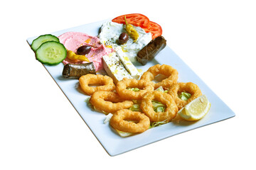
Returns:
[[[69,31],[75,31],[97,36],[100,31],[100,27],[104,22],[105,21],[100,21],[75,28],[68,28],[52,34],[58,36]],[[35,38],[37,37],[28,38],[28,44],[31,45],[31,42]],[[67,96],[75,110],[78,111],[81,118],[85,121],[95,137],[97,137],[97,140],[99,140],[102,147],[104,147],[107,153],[111,156],[122,154],[132,149],[148,145],[152,142],[163,140],[166,137],[171,137],[181,132],[200,128],[204,125],[216,123],[220,120],[225,120],[235,116],[235,113],[233,113],[233,111],[231,111],[230,108],[228,108],[228,106],[226,106],[225,103],[223,103],[223,101],[221,101],[220,98],[218,98],[218,96],[216,96],[213,91],[211,91],[208,86],[206,86],[206,84],[168,46],[159,52],[159,55],[145,66],[141,66],[140,64],[135,65],[138,69],[142,69],[143,72],[145,72],[149,67],[155,64],[171,65],[178,70],[178,81],[191,81],[200,87],[202,93],[206,94],[211,103],[210,111],[204,118],[196,122],[188,122],[185,120],[178,122],[174,121],[156,128],[151,128],[139,135],[120,137],[116,132],[114,132],[114,130],[112,130],[112,128],[110,128],[109,124],[103,123],[105,120],[105,115],[103,113],[92,111],[92,109],[87,106],[85,100],[89,96],[85,96],[85,94],[82,94],[78,90],[78,79],[65,79],[62,77],[62,63],[56,66],[43,66],[47,69],[50,76],[53,77],[65,96]]]

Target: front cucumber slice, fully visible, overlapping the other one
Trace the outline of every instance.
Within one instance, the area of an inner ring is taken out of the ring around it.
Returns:
[[[67,57],[67,50],[60,42],[43,42],[43,44],[38,47],[38,50],[36,50],[36,59],[43,64],[59,64],[65,57]]]

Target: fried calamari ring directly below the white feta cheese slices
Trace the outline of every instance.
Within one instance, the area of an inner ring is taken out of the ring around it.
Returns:
[[[128,90],[128,87],[137,87],[140,90],[132,91]],[[124,78],[117,82],[116,91],[122,98],[140,100],[147,91],[154,91],[154,86],[145,80]]]

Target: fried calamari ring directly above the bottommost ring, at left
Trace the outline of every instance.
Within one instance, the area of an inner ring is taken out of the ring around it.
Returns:
[[[120,109],[130,108],[132,101],[125,101],[114,91],[95,91],[90,97],[90,103],[99,111],[115,113]]]

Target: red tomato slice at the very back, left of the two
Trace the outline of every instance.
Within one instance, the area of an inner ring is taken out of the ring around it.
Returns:
[[[149,18],[140,13],[117,16],[117,18],[112,19],[112,22],[124,24],[124,16],[127,18],[127,23],[130,23],[133,26],[139,26],[141,28],[147,28],[149,26]]]

